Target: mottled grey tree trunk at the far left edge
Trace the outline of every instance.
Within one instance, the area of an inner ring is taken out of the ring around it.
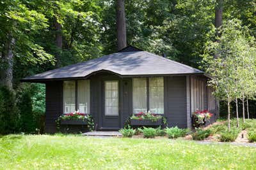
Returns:
[[[2,53],[1,63],[3,64],[0,74],[0,84],[13,89],[13,46],[15,39],[12,34],[8,35],[8,39],[4,43],[4,52]]]

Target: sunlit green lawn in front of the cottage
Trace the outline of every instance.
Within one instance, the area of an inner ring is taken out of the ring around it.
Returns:
[[[254,169],[256,148],[182,139],[8,135],[0,169]]]

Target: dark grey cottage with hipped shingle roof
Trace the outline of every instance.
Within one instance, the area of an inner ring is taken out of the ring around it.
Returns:
[[[190,128],[196,109],[216,113],[208,79],[203,71],[127,46],[22,81],[45,83],[45,132],[56,132],[56,119],[74,110],[91,114],[98,130],[120,129],[132,113],[148,110],[163,114],[169,127]]]

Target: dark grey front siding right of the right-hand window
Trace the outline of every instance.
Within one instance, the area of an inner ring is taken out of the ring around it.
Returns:
[[[164,80],[164,116],[168,127],[187,128],[186,76],[170,76]]]

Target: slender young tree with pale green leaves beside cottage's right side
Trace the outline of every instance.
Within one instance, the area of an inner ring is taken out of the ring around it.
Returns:
[[[220,27],[221,36],[217,37],[218,41],[209,41],[205,48],[204,61],[207,63],[207,73],[212,76],[211,85],[216,90],[216,96],[221,99],[226,98],[228,104],[229,130],[230,102],[244,96],[246,83],[255,82],[255,78],[249,74],[250,67],[246,67],[253,63],[251,65],[254,66],[253,72],[255,72],[256,55],[250,52],[251,45],[244,36],[245,29],[246,27],[241,26],[241,21],[229,20]],[[219,53],[217,59],[212,56],[214,53]]]

